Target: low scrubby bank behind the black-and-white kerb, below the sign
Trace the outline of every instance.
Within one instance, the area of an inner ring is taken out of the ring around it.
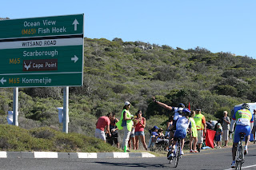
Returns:
[[[78,133],[58,132],[52,128],[26,130],[14,125],[0,125],[0,148],[5,151],[113,152],[118,148],[102,140]]]

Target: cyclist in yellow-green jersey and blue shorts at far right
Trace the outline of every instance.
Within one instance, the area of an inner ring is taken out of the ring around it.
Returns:
[[[254,125],[254,118],[252,114],[250,113],[250,105],[247,103],[242,104],[242,109],[238,110],[236,113],[234,113],[231,121],[231,127],[230,132],[234,131],[234,124],[236,124],[235,132],[234,132],[234,140],[233,140],[233,148],[232,148],[232,157],[233,161],[231,164],[231,168],[235,168],[235,155],[238,148],[238,142],[240,140],[239,133],[244,132],[245,134],[245,150],[244,154],[246,155],[248,153],[247,144],[250,140],[250,131]]]

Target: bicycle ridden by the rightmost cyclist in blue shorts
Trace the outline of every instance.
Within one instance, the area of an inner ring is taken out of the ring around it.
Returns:
[[[244,152],[243,152],[243,149],[242,149],[242,140],[245,138],[245,134],[244,132],[240,132],[239,135],[240,135],[240,140],[238,142],[238,148],[237,148],[237,154],[235,156],[235,169],[239,169],[241,170],[242,168],[242,164],[245,162],[244,159],[245,159],[245,156],[244,156]]]

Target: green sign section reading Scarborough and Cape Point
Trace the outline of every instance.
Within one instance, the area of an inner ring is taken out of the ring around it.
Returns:
[[[82,45],[0,49],[0,75],[82,72]]]

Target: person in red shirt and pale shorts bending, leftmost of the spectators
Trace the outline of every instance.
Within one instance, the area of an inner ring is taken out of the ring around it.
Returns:
[[[112,113],[108,113],[106,116],[99,117],[98,121],[96,122],[96,129],[95,129],[95,137],[102,139],[106,142],[106,135],[105,135],[105,128],[106,133],[110,133],[110,118],[112,117]]]

